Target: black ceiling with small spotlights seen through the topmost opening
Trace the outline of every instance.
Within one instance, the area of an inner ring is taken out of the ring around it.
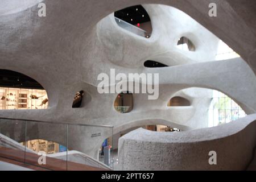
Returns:
[[[125,9],[115,11],[114,15],[130,24],[150,22],[147,11],[141,5],[126,7]]]

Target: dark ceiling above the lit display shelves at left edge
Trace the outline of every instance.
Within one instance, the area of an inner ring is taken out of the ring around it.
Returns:
[[[44,89],[43,86],[33,78],[7,69],[0,69],[0,87]]]

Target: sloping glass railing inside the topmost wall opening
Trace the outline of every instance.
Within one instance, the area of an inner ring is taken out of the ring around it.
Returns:
[[[133,24],[127,23],[122,19],[115,17],[115,22],[117,22],[119,27],[124,28],[127,31],[133,32],[139,36],[143,36],[144,38],[150,38],[150,33],[142,30],[139,27],[134,26]]]

